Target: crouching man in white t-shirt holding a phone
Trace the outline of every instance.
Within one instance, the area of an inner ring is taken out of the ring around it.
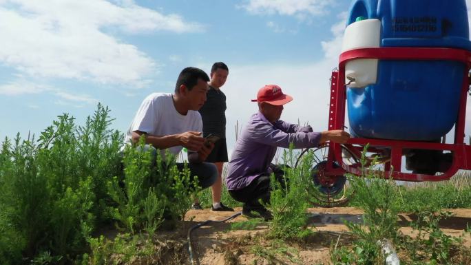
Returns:
[[[177,155],[188,149],[190,175],[198,176],[202,189],[211,187],[218,177],[212,163],[203,162],[214,145],[202,138],[202,120],[198,109],[205,104],[209,76],[196,67],[187,67],[178,76],[175,94],[153,93],[140,105],[126,135],[128,144],[145,136],[146,148],[165,150]],[[150,146],[151,145],[151,146]],[[154,152],[156,153],[156,151]],[[182,163],[177,163],[183,169]]]

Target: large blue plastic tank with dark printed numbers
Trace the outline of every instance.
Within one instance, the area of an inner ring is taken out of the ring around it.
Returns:
[[[465,0],[354,0],[357,17],[381,20],[380,47],[454,47],[471,51]],[[457,120],[465,65],[380,60],[377,83],[347,87],[350,132],[362,138],[432,141]]]

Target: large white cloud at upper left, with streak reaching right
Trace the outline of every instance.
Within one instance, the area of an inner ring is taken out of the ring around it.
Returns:
[[[133,1],[0,1],[0,62],[29,76],[142,86],[158,63],[109,28],[194,32],[202,25]]]

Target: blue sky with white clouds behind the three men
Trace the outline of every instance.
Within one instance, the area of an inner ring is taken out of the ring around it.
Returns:
[[[0,138],[38,135],[64,112],[82,124],[98,102],[124,133],[145,96],[215,61],[229,66],[229,149],[236,121],[256,112],[250,99],[269,83],[294,98],[284,120],[324,130],[349,3],[0,0]]]

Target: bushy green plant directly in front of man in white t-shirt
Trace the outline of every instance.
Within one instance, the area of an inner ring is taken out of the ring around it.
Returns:
[[[116,176],[107,182],[114,200],[109,211],[132,233],[136,229],[154,233],[164,218],[183,219],[191,195],[199,191],[198,178],[191,180],[186,165],[178,171],[174,156],[167,152],[163,158],[159,151],[153,153],[156,150],[146,148],[143,140],[137,147],[125,149],[123,178]]]

